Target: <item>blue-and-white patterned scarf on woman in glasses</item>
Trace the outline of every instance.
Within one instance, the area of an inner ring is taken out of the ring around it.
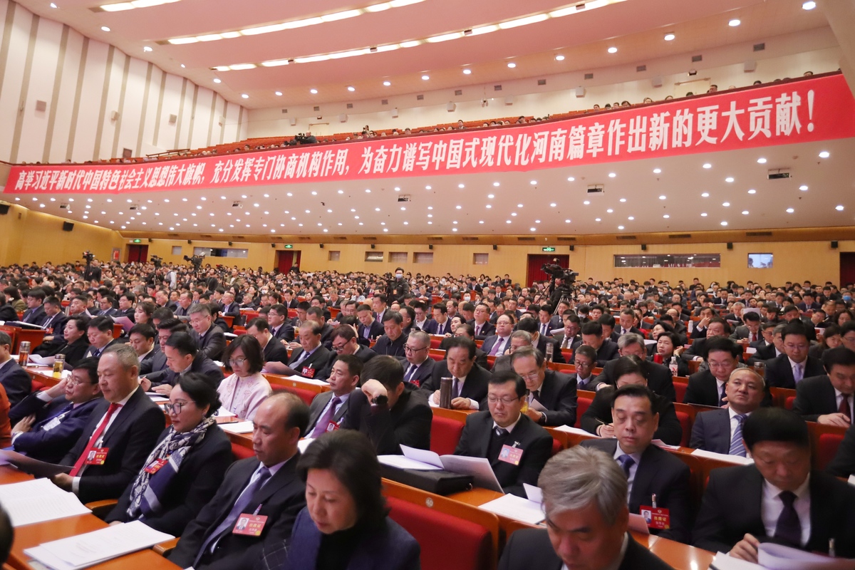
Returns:
[[[191,450],[192,446],[198,444],[205,437],[210,426],[216,423],[215,418],[204,418],[199,425],[185,433],[175,432],[174,426],[169,427],[166,438],[151,451],[149,458],[145,460],[143,469],[137,475],[131,488],[131,504],[127,508],[127,515],[131,519],[144,519],[162,512],[161,499],[169,488],[169,482],[178,473],[181,461]],[[168,462],[156,470],[148,473],[145,469],[156,465],[157,461]]]

